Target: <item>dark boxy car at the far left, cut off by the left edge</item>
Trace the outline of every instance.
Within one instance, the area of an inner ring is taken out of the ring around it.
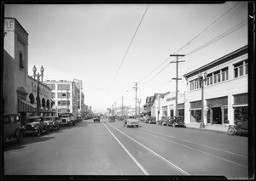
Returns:
[[[22,142],[25,130],[21,127],[20,116],[18,114],[3,114],[3,122],[4,142],[12,140]]]

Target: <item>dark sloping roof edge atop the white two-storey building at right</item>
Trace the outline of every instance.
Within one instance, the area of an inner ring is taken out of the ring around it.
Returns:
[[[219,59],[215,59],[212,62],[210,62],[209,64],[203,65],[200,68],[195,69],[194,71],[190,71],[189,73],[184,74],[183,77],[189,78],[191,76],[195,76],[198,74],[198,72],[207,71],[212,66],[223,64],[224,62],[227,62],[230,59],[234,59],[234,58],[240,56],[241,54],[247,54],[247,52],[248,52],[248,45],[246,45],[242,48],[236,49],[235,51],[231,52],[230,54],[226,54]]]

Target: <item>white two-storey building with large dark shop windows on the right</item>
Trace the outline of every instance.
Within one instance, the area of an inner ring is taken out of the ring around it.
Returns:
[[[184,75],[187,81],[185,96],[185,123],[201,122],[201,105],[204,105],[204,123],[234,124],[248,116],[247,46],[203,65]],[[199,72],[206,72],[202,84]]]

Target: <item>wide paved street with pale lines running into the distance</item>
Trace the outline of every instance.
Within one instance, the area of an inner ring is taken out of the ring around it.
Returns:
[[[239,143],[239,144],[238,144]],[[247,137],[87,120],[7,144],[6,175],[223,175],[247,178]]]

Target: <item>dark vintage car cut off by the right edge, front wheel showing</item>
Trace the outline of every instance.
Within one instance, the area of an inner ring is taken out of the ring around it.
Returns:
[[[241,119],[235,122],[235,125],[230,125],[228,128],[228,134],[245,134],[248,133],[248,119]]]

